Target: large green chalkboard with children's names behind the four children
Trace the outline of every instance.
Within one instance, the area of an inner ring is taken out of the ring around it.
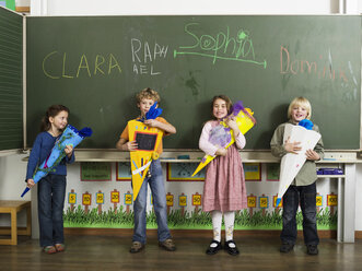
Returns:
[[[28,145],[46,107],[60,103],[70,123],[94,130],[81,148],[113,149],[149,86],[177,128],[168,149],[198,148],[220,93],[255,111],[246,149],[269,149],[295,96],[311,101],[326,149],[360,148],[360,16],[28,17],[26,26]]]

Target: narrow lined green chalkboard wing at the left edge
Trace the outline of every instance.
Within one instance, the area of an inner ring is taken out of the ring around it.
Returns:
[[[23,17],[0,8],[0,151],[23,148]]]

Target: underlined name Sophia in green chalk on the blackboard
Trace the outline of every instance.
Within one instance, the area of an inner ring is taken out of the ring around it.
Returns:
[[[256,60],[250,33],[246,30],[240,30],[235,36],[231,36],[229,26],[226,32],[220,31],[214,36],[201,33],[199,23],[189,23],[185,25],[185,33],[189,35],[194,44],[179,46],[179,50],[174,50],[174,58],[177,55],[194,55],[199,57],[212,58],[212,63],[217,60],[231,60],[248,62],[267,68],[267,61]]]

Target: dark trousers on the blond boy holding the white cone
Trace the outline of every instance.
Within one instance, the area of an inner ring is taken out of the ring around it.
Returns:
[[[303,214],[303,236],[305,245],[318,245],[316,182],[308,186],[290,186],[283,196],[283,229],[280,238],[282,243],[295,244],[296,211],[299,204]]]

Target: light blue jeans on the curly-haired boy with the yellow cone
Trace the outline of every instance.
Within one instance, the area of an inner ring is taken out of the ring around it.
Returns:
[[[166,192],[163,184],[162,166],[160,160],[153,161],[150,165],[151,177],[144,178],[142,187],[133,203],[135,212],[135,231],[133,241],[145,244],[145,214],[147,214],[147,190],[150,184],[154,213],[157,220],[157,235],[159,240],[164,241],[171,238],[170,229],[167,226],[167,204]]]

